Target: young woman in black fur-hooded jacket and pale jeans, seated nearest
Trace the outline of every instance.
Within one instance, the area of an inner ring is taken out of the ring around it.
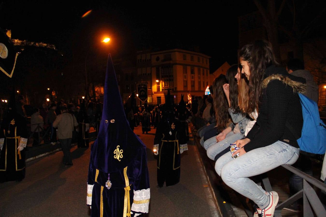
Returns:
[[[215,170],[233,190],[254,201],[254,216],[273,217],[278,202],[276,192],[266,192],[248,177],[259,175],[282,164],[293,164],[299,156],[297,139],[288,123],[301,136],[302,108],[298,92],[305,89],[304,79],[276,67],[270,43],[258,40],[239,52],[242,73],[249,80],[249,101],[245,112],[259,111],[248,135],[236,141],[240,147],[233,155],[221,156]]]

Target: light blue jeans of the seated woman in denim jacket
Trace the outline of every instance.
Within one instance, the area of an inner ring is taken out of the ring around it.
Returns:
[[[233,131],[231,131],[230,133],[227,134],[225,139],[220,142],[216,142],[216,136],[214,138],[212,137],[206,140],[204,142],[204,148],[207,150],[207,156],[210,159],[214,160],[215,156],[218,153],[220,153],[227,147],[230,147],[230,144],[234,144],[237,140],[242,138],[243,136],[241,135],[241,133],[233,133]]]

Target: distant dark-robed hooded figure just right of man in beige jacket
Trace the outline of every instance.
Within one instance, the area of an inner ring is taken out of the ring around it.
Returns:
[[[89,121],[86,113],[86,101],[83,100],[81,104],[81,110],[77,115],[78,121],[78,147],[89,147]]]

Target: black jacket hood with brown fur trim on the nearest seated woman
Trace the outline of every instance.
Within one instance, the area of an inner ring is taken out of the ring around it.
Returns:
[[[293,92],[304,93],[306,91],[306,80],[302,77],[289,74],[282,67],[276,67],[275,65],[267,67],[262,87],[266,88],[267,84],[272,80],[282,81],[285,85],[289,85],[293,89]]]

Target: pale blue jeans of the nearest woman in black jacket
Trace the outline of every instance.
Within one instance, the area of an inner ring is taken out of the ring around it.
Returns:
[[[298,148],[277,141],[235,159],[231,157],[231,153],[226,153],[216,161],[215,170],[224,183],[233,190],[254,201],[259,208],[265,208],[269,203],[269,197],[248,177],[273,170],[283,164],[294,164],[298,157]]]

